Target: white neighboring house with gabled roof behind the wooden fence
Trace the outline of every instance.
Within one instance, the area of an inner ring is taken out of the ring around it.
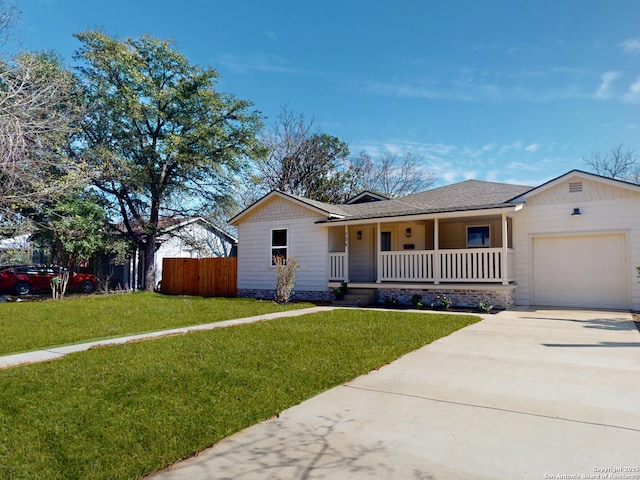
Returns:
[[[232,257],[237,240],[201,217],[170,219],[162,222],[155,255],[156,284],[162,280],[164,258]],[[124,288],[139,289],[143,283],[142,252],[136,249],[113,280]]]

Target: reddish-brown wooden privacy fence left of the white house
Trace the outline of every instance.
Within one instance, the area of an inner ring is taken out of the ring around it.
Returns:
[[[164,258],[160,291],[167,295],[236,297],[238,258]]]

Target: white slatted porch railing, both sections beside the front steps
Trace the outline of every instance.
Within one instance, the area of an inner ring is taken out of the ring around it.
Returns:
[[[380,281],[502,282],[502,248],[380,252]],[[507,250],[507,281],[515,280],[515,252]],[[331,280],[343,280],[346,256],[330,253]],[[439,268],[438,268],[439,265]]]

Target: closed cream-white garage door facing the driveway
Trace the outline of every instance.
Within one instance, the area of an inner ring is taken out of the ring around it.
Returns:
[[[536,305],[628,308],[624,235],[533,239]]]

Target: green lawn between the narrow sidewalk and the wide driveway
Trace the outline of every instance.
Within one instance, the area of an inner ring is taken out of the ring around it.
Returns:
[[[0,478],[138,478],[478,320],[343,309],[3,370]]]

